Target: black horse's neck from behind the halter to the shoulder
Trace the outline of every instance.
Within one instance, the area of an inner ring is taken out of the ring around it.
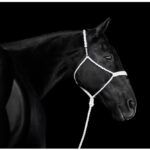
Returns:
[[[85,56],[82,31],[64,32],[1,45],[8,51],[15,73],[44,97],[64,77],[72,76]]]

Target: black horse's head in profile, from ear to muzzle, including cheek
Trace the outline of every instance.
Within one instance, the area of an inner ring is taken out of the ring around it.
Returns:
[[[96,100],[102,101],[115,119],[124,121],[135,115],[137,102],[119,56],[105,35],[109,22],[110,18],[96,28],[86,30],[88,56],[76,70],[75,78],[91,95],[98,91]]]

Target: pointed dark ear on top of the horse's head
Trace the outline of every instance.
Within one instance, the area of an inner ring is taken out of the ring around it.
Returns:
[[[99,35],[100,33],[104,33],[110,23],[110,17],[107,18],[104,22],[102,22],[99,26],[96,27],[96,34]]]

